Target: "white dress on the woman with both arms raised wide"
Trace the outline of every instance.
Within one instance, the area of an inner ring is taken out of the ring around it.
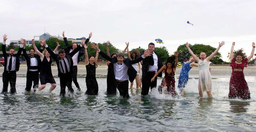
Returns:
[[[198,68],[199,68],[199,81],[198,87],[201,88],[202,92],[211,91],[212,90],[212,78],[210,73],[210,61],[208,62],[206,59],[199,60]]]

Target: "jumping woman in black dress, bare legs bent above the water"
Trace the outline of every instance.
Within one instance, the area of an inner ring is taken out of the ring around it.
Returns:
[[[41,40],[44,38],[41,38]],[[40,42],[41,45],[44,45]],[[38,87],[38,91],[43,90],[45,88],[46,83],[51,83],[51,87],[50,87],[50,92],[52,92],[52,90],[56,87],[56,82],[52,76],[52,68],[51,68],[51,64],[52,64],[52,57],[50,56],[50,54],[47,52],[46,49],[44,49],[44,52],[41,53],[38,51],[38,49],[36,48],[35,43],[32,40],[32,45],[36,51],[36,53],[40,56],[41,58],[41,71],[39,74],[39,79],[41,82],[41,86]]]

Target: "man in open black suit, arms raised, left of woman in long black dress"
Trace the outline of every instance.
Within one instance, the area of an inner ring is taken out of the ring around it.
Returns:
[[[51,57],[56,61],[57,67],[58,67],[58,77],[60,77],[60,95],[65,96],[66,94],[66,86],[68,87],[68,90],[73,93],[74,89],[72,88],[72,73],[73,73],[73,59],[72,57],[76,54],[76,52],[79,52],[83,45],[77,46],[76,49],[74,49],[69,54],[66,54],[64,50],[59,51],[59,56],[57,56],[50,47],[45,42],[45,39],[42,39],[40,43],[44,44],[44,47],[46,50],[50,53]]]

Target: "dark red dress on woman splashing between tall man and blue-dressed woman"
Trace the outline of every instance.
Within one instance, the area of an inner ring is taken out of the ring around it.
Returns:
[[[167,73],[167,67],[164,70],[164,79],[162,80],[161,83],[161,89],[158,89],[160,93],[162,93],[162,87],[164,87],[165,83],[166,83],[166,87],[167,87],[167,92],[169,94],[172,94],[172,96],[176,96],[176,91],[175,91],[175,78],[174,78],[174,71],[172,68],[172,72],[170,74]]]

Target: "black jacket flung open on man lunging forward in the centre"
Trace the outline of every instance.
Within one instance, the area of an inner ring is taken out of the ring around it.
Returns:
[[[106,53],[104,53],[102,51],[100,51],[99,54],[103,58],[105,58],[108,61],[110,61],[113,65],[115,65],[115,63],[117,63],[117,57],[112,57],[111,58]],[[141,60],[143,60],[143,58],[141,56],[136,58],[136,59],[134,59],[134,60],[131,60],[129,58],[124,59],[124,65],[126,65],[128,67],[127,74],[129,76],[130,82],[132,82],[135,79],[136,75],[137,75],[137,71],[133,68],[132,64],[139,63]],[[109,69],[109,70],[111,70],[111,69]],[[114,66],[113,66],[113,70],[111,70],[111,72],[112,72],[112,74],[110,74],[110,75],[112,75],[111,78],[115,79]],[[111,83],[111,82],[109,82],[109,83]]]

